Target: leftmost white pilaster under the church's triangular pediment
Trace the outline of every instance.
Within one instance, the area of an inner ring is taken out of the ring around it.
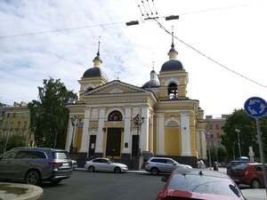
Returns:
[[[85,109],[85,118],[84,118],[84,126],[83,126],[83,135],[82,135],[82,143],[81,143],[81,149],[80,153],[86,153],[88,152],[89,148],[89,123],[90,123],[90,113],[91,108]]]

